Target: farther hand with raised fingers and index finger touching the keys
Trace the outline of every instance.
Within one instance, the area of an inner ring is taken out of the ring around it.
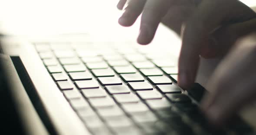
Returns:
[[[120,0],[118,9],[122,9],[126,2]],[[238,0],[128,0],[118,22],[122,26],[131,26],[141,13],[137,41],[142,45],[152,41],[161,22],[177,33],[185,24],[178,76],[178,84],[184,89],[194,83],[199,56],[225,55],[237,38],[250,31],[247,22],[241,23],[256,16]]]

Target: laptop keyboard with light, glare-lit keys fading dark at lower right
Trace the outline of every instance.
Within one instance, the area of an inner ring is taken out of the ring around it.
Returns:
[[[162,50],[128,45],[35,43],[72,109],[93,135],[246,135],[239,124],[214,131],[197,106],[204,89],[177,86],[177,62]],[[156,51],[161,53],[156,53]]]

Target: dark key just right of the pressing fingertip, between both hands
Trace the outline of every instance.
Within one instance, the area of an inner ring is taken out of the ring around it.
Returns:
[[[192,96],[195,100],[200,102],[203,98],[203,95],[207,93],[207,90],[204,89],[200,84],[194,83],[190,90],[187,90],[188,94]]]

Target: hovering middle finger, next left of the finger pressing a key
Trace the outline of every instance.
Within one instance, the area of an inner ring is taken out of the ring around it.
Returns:
[[[147,0],[141,16],[140,34],[138,43],[149,44],[154,38],[162,17],[167,13],[172,0]]]

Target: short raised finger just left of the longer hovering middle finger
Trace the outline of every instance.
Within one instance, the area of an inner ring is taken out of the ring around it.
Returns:
[[[128,0],[125,12],[118,19],[121,26],[131,26],[141,14],[146,0]]]

